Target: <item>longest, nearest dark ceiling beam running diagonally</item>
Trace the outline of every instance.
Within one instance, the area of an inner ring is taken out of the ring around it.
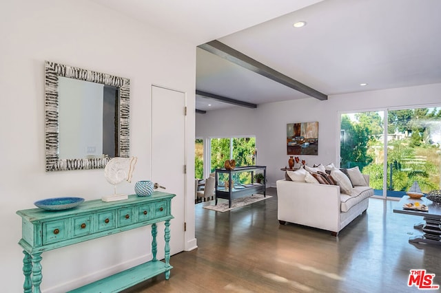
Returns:
[[[281,74],[276,70],[260,63],[253,58],[234,50],[232,47],[221,43],[220,41],[214,40],[202,45],[199,45],[201,49],[208,51],[212,54],[215,54],[219,57],[227,59],[232,63],[236,63],[244,68],[251,70],[252,72],[256,72],[257,74],[263,75],[271,80],[274,80],[282,85],[286,85],[287,87],[291,87],[291,89],[296,89],[296,91],[300,91],[303,94],[307,94],[308,96],[317,98],[318,100],[327,100],[328,96],[320,93],[320,91],[316,91],[307,85],[304,85],[285,74]]]

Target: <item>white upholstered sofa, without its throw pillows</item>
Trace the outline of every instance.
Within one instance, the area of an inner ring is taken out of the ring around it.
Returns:
[[[277,181],[278,221],[320,228],[337,236],[369,206],[373,189],[369,175],[363,175],[368,186],[354,186],[350,195],[340,193],[340,186],[318,183]]]

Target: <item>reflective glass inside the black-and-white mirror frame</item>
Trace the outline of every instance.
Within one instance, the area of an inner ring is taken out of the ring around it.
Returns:
[[[59,77],[59,158],[117,155],[118,88]]]

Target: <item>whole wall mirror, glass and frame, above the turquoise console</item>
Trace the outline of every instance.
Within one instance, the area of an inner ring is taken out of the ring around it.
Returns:
[[[46,171],[129,157],[130,80],[45,61]]]

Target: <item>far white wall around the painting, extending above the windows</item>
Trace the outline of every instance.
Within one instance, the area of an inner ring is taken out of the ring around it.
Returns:
[[[300,155],[307,164],[337,163],[339,111],[358,111],[380,107],[411,107],[441,104],[441,83],[419,87],[402,87],[381,91],[364,91],[315,98],[274,102],[257,109],[232,108],[196,114],[196,137],[256,135],[257,164],[267,166],[268,183],[276,185],[288,165],[286,124],[318,121],[318,155]]]

